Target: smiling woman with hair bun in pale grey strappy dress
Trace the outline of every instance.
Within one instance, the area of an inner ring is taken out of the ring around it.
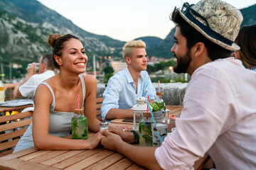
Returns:
[[[102,139],[100,121],[96,117],[97,81],[85,72],[87,56],[82,42],[73,35],[50,34],[53,61],[60,72],[36,89],[33,123],[18,142],[14,152],[33,147],[38,149],[94,149]],[[39,65],[39,67],[41,67]],[[84,108],[88,129],[97,132],[87,140],[63,138],[71,130],[73,111]],[[33,132],[33,135],[32,135]]]

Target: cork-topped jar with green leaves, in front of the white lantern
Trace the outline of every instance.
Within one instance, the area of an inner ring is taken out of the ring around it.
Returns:
[[[139,122],[139,146],[152,146],[151,114],[143,113],[142,121]]]

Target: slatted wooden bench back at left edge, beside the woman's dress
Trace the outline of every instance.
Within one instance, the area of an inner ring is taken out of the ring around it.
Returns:
[[[15,115],[0,116],[0,157],[11,154],[13,147],[16,146],[18,140],[26,132],[25,126],[32,121],[33,112],[16,113]],[[21,120],[23,118],[28,118]],[[7,123],[9,121],[9,123]]]

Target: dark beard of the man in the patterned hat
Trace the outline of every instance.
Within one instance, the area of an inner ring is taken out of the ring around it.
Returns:
[[[188,50],[188,52],[186,53],[186,55],[184,55],[183,57],[177,57],[176,54],[174,54],[174,57],[176,57],[177,62],[176,62],[176,66],[174,67],[174,72],[176,73],[186,73],[188,66],[191,62],[191,52],[190,50]]]

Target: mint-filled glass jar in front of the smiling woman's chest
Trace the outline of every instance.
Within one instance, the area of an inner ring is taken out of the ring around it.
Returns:
[[[83,109],[75,109],[75,115],[71,119],[72,137],[75,140],[87,140],[88,125]]]

